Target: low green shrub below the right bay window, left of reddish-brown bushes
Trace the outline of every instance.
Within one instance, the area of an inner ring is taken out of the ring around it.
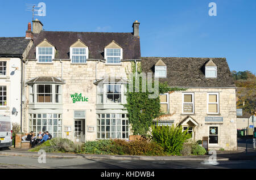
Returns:
[[[114,145],[112,140],[89,141],[84,144],[84,153],[88,154],[111,154]]]

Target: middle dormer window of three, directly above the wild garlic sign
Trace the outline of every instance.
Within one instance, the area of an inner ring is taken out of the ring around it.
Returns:
[[[71,63],[86,63],[89,48],[80,39],[70,47]]]

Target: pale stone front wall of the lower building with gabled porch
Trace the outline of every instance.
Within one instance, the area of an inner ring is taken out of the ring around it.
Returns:
[[[182,114],[182,93],[193,92],[195,97],[195,113]],[[207,93],[218,92],[220,100],[220,114],[207,114]],[[190,115],[199,126],[194,128],[194,140],[202,140],[203,136],[209,136],[209,126],[219,127],[219,144],[209,145],[209,149],[236,150],[237,149],[237,124],[236,124],[236,90],[235,88],[190,88],[187,91],[170,93],[170,114],[160,118],[162,120],[174,120],[179,125]],[[223,117],[223,122],[206,122],[205,117]],[[189,123],[191,125],[191,123]]]

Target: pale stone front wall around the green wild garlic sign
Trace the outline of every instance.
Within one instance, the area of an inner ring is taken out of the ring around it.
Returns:
[[[71,61],[62,61],[62,76],[65,84],[62,88],[63,98],[63,127],[71,126],[72,132],[63,134],[63,138],[73,138],[74,132],[74,110],[86,111],[86,128],[94,126],[95,132],[86,132],[86,140],[96,139],[96,85],[93,84],[97,80],[108,76],[127,77],[127,72],[131,71],[131,62],[121,62],[121,65],[106,65],[103,62],[87,61],[87,64],[71,64]],[[38,76],[54,76],[61,77],[60,61],[53,61],[51,64],[37,63],[37,61],[28,61],[26,65],[26,82]],[[28,86],[26,87],[26,110],[24,118],[25,131],[28,131]],[[88,101],[80,101],[73,103],[71,95],[78,93],[82,97],[88,98]],[[63,132],[64,133],[64,132]]]

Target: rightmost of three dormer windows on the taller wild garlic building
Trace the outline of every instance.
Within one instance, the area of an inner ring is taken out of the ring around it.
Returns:
[[[105,47],[104,56],[107,64],[120,64],[123,56],[123,49],[115,41]]]

